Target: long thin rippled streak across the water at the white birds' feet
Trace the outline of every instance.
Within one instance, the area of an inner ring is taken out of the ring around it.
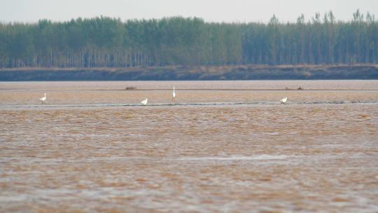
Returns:
[[[378,101],[293,101],[286,104],[280,102],[199,102],[199,103],[151,103],[141,104],[34,104],[34,105],[0,105],[0,108],[69,108],[69,107],[180,107],[180,106],[229,106],[229,105],[290,105],[290,104],[378,104]]]

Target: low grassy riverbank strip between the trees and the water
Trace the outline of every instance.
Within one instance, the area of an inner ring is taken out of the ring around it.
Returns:
[[[378,79],[378,64],[0,69],[0,81]]]

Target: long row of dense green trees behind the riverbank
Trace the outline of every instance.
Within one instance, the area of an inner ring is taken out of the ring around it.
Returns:
[[[0,67],[160,67],[378,62],[378,22],[332,12],[297,22],[216,23],[201,18],[0,24]]]

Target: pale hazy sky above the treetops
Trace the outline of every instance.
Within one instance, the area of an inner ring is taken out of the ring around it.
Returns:
[[[306,20],[332,10],[337,20],[351,20],[359,8],[378,16],[378,0],[0,0],[0,22],[37,22],[47,18],[109,16],[121,20],[199,17],[207,22],[268,22],[273,14],[283,22]]]

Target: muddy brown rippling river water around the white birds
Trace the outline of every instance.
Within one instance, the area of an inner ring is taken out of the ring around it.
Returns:
[[[0,115],[0,212],[378,212],[378,81],[0,82]]]

